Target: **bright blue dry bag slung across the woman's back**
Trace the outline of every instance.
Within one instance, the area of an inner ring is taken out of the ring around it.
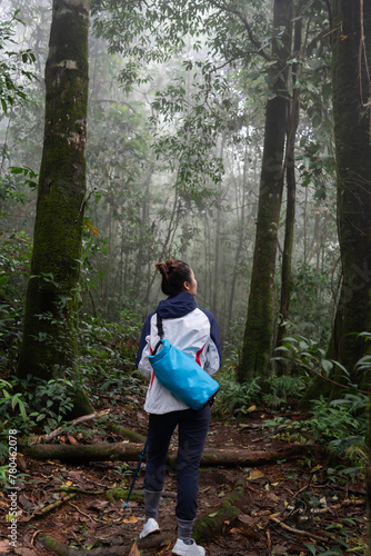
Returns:
[[[217,380],[169,340],[163,339],[162,319],[157,315],[160,341],[149,361],[158,381],[192,409],[202,409],[219,390]],[[160,351],[159,347],[162,345]]]

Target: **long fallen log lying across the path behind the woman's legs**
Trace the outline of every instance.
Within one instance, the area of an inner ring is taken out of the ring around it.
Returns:
[[[205,449],[201,457],[203,467],[239,467],[257,466],[300,456],[311,451],[313,446],[290,445],[278,451],[258,451],[249,449]],[[69,464],[88,464],[89,461],[138,461],[142,446],[136,444],[94,444],[94,445],[22,445],[20,451],[33,459],[59,459]],[[318,447],[315,447],[318,449]],[[169,451],[168,464],[174,467],[177,449]]]

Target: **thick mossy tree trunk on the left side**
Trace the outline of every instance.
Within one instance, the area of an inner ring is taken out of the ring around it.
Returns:
[[[53,0],[46,121],[18,375],[76,376],[86,198],[89,0]],[[91,413],[78,396],[73,414]]]

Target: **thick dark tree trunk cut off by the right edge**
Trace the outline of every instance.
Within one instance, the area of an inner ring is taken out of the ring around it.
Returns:
[[[333,329],[333,357],[355,383],[371,332],[371,3],[332,0],[333,118],[337,153],[338,234],[342,287]],[[365,40],[368,38],[369,40]],[[370,350],[370,348],[368,348]]]

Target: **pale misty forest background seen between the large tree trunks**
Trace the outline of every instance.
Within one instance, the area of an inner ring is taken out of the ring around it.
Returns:
[[[14,73],[29,99],[9,106],[1,118],[1,171],[11,192],[1,210],[3,242],[32,240],[36,188],[9,169],[39,172],[51,18],[48,2],[3,3],[2,18],[14,9],[24,24],[17,24],[13,46],[32,49],[36,61],[28,69],[37,79]],[[142,317],[159,296],[154,262],[180,258],[194,268],[200,305],[215,314],[223,340],[238,349],[251,277],[269,80],[257,57],[250,57],[251,66],[227,64],[223,52],[212,52],[211,39],[202,33],[183,42],[159,62],[142,62],[139,82],[126,90],[128,59],[110,53],[108,41],[91,32],[81,310],[113,320],[126,310]],[[329,99],[323,101],[327,63],[315,58],[313,47],[305,68],[315,85],[307,83],[297,135],[290,312],[295,334],[322,340],[338,275],[331,110]],[[218,69],[208,73],[208,64]],[[285,193],[274,321],[284,220]]]

